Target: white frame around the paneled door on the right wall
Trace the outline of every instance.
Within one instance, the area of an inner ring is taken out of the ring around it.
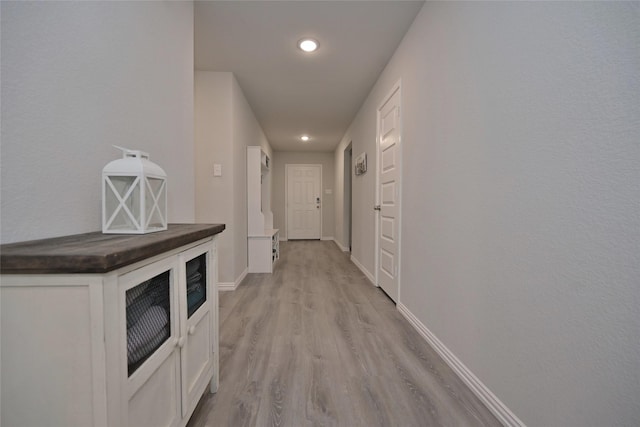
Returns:
[[[398,121],[399,128],[399,137],[398,137],[398,174],[400,176],[400,183],[398,185],[398,254],[397,254],[397,265],[398,265],[398,273],[396,277],[398,279],[398,301],[396,304],[400,303],[400,291],[401,291],[401,275],[402,275],[402,258],[401,258],[401,247],[402,247],[402,143],[403,143],[403,132],[402,132],[402,79],[399,79],[394,85],[391,87],[391,90],[387,92],[384,98],[382,98],[382,102],[378,104],[378,108],[376,108],[376,187],[375,187],[375,205],[380,205],[380,112],[384,105],[391,99],[395,93],[398,92],[398,105],[400,109],[400,120]],[[379,270],[380,270],[380,211],[375,211],[375,263],[374,263],[374,278],[375,278],[375,286],[381,288],[379,281]]]

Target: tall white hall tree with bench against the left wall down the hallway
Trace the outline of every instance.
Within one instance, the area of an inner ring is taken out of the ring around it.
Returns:
[[[271,212],[271,159],[247,147],[247,232],[249,273],[271,273],[280,258],[280,239]]]

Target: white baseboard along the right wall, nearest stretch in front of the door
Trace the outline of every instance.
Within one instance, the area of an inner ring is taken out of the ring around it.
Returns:
[[[400,314],[422,335],[427,343],[444,359],[447,365],[453,369],[473,394],[485,404],[504,426],[526,427],[404,304],[398,303],[397,307]]]

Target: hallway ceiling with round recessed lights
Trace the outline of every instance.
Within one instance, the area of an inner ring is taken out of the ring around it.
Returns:
[[[422,5],[196,1],[195,68],[234,73],[275,151],[332,151]]]

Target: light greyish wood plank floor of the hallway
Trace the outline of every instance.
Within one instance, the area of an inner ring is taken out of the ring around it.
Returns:
[[[281,242],[220,295],[220,387],[202,426],[499,426],[330,241]]]

